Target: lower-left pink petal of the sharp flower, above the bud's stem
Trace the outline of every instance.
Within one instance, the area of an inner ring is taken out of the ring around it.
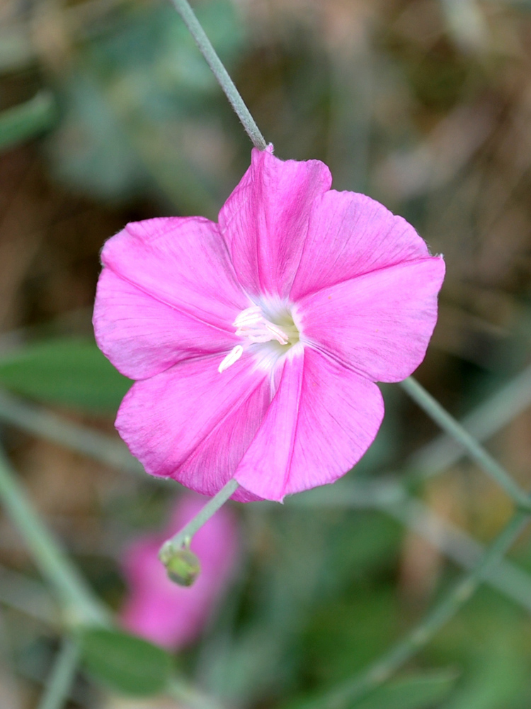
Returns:
[[[133,384],[115,425],[148,473],[210,496],[234,476],[270,403],[268,372],[253,363],[244,354],[219,374],[218,357],[185,360]]]

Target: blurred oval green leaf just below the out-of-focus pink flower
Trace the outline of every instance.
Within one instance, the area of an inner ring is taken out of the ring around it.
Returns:
[[[81,652],[94,679],[122,694],[157,694],[171,679],[172,660],[165,650],[119,630],[86,630]]]

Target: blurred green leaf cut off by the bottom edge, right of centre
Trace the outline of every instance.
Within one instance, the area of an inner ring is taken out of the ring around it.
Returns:
[[[453,671],[416,674],[390,682],[352,705],[352,709],[432,709],[455,685]]]

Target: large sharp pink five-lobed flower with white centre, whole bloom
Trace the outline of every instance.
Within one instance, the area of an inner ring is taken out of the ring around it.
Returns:
[[[128,224],[103,247],[94,325],[137,379],[116,427],[146,470],[281,501],[336,481],[375,438],[375,381],[423,360],[444,262],[318,160],[253,150],[219,213]]]

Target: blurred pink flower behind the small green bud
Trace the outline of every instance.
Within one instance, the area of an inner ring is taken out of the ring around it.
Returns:
[[[193,586],[174,584],[159,562],[157,554],[162,542],[188,523],[205,502],[190,493],[182,496],[166,531],[141,537],[122,557],[129,590],[120,613],[122,625],[169,649],[183,647],[200,635],[236,562],[236,523],[227,507],[218,510],[193,537],[191,549],[201,564]]]

